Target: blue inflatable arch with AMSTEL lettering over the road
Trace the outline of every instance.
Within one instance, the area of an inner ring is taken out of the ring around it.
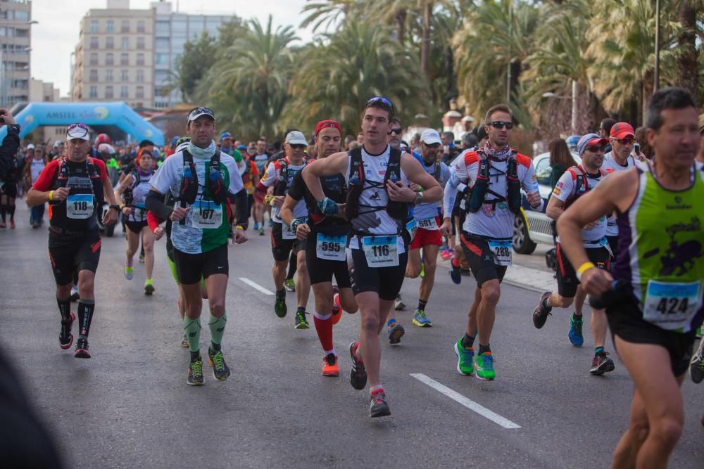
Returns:
[[[20,138],[42,125],[65,126],[81,122],[88,126],[114,125],[134,140],[151,140],[163,146],[164,134],[146,122],[125,103],[30,103],[15,115],[20,124]],[[0,141],[7,134],[6,127],[0,128]]]

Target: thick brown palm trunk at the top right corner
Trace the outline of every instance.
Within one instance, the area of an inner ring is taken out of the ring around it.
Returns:
[[[694,102],[699,101],[699,74],[696,48],[696,16],[697,6],[694,0],[682,1],[679,9],[679,23],[682,32],[679,34],[680,56],[677,60],[677,86],[688,90]]]

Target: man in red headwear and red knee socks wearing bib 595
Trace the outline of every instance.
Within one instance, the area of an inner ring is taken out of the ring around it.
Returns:
[[[315,126],[315,146],[318,160],[327,158],[340,150],[340,124],[334,120],[322,120]],[[333,174],[320,178],[322,190],[326,197],[335,203],[344,204],[347,187],[344,176]],[[308,221],[294,217],[298,201],[305,198],[308,207]],[[322,375],[337,376],[337,351],[332,340],[332,326],[341,316],[340,306],[348,313],[357,311],[357,303],[352,293],[351,281],[346,259],[348,222],[342,217],[326,217],[315,204],[315,199],[301,172],[296,173],[281,208],[281,219],[291,226],[299,240],[306,243],[306,266],[310,272],[310,284],[315,295],[315,313],[313,324],[322,345]],[[339,293],[335,293],[332,277],[337,281]],[[337,306],[337,307],[336,307]]]

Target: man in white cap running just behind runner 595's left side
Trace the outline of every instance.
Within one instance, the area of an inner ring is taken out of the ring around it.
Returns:
[[[254,193],[256,199],[261,202],[267,200],[267,205],[274,207],[272,217],[274,226],[271,230],[271,252],[274,255],[272,276],[276,287],[274,312],[279,318],[283,318],[287,313],[284,279],[286,278],[287,266],[289,265],[289,253],[293,251],[296,254],[296,263],[298,264],[298,276],[296,277],[296,304],[298,305],[295,319],[296,329],[308,329],[309,327],[306,320],[306,304],[308,304],[308,295],[310,294],[310,280],[306,270],[305,245],[302,240],[296,238],[296,232],[291,231],[289,224],[282,223],[279,212],[294,176],[308,163],[308,158],[305,158],[305,153],[303,153],[307,146],[306,137],[301,132],[297,130],[290,131],[284,143],[286,157],[269,164]],[[270,194],[265,195],[267,192],[270,192]],[[308,217],[306,202],[299,200],[293,212],[296,219]]]

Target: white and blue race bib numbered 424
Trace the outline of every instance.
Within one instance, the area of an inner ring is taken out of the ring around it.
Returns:
[[[699,310],[700,282],[665,283],[648,281],[643,319],[667,330],[677,330]]]

